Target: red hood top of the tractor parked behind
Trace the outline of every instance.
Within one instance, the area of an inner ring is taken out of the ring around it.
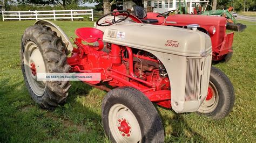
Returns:
[[[218,16],[201,16],[201,15],[171,15],[166,18],[165,25],[208,25],[208,26],[225,26],[226,18]]]

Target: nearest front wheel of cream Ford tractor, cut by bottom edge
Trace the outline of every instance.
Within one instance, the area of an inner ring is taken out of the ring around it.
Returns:
[[[111,90],[102,105],[102,122],[113,142],[164,142],[161,119],[151,101],[131,87]]]

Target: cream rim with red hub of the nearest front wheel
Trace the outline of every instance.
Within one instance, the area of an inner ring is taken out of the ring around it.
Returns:
[[[132,111],[123,104],[114,104],[109,111],[109,128],[116,142],[139,142],[142,132]]]

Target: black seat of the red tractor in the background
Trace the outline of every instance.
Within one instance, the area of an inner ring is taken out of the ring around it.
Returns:
[[[147,19],[147,13],[142,8],[142,6],[133,6],[134,10],[134,16],[138,17],[140,20],[142,20],[143,23],[151,24],[151,23],[158,23],[157,19]]]

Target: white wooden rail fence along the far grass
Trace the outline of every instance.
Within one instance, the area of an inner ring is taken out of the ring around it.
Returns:
[[[85,15],[93,21],[93,9],[90,10],[45,10],[45,11],[2,11],[3,21],[5,19],[27,20],[27,19],[83,19]]]

